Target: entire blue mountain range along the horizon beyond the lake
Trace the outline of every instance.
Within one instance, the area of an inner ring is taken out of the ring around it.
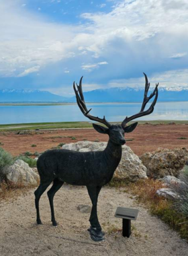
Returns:
[[[151,91],[152,92],[152,91]],[[149,95],[150,91],[148,92]],[[142,102],[140,88],[109,88],[85,92],[86,102]],[[0,90],[0,102],[75,102],[75,96],[66,98],[40,90]],[[158,102],[188,101],[188,88],[159,88]]]

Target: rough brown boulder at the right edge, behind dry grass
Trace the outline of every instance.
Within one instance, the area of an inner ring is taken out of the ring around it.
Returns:
[[[154,179],[160,179],[167,175],[179,176],[180,170],[188,160],[187,148],[175,148],[169,150],[158,148],[155,152],[145,153],[140,159],[147,167],[147,175]]]

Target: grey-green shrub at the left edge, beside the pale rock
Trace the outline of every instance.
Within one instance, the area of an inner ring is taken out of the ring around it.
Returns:
[[[5,170],[13,164],[13,157],[11,154],[0,148],[0,182],[4,179]]]

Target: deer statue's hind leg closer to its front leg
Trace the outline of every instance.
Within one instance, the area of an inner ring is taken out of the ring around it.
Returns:
[[[51,189],[47,192],[48,199],[50,201],[50,209],[51,209],[51,216],[52,216],[52,225],[57,226],[55,216],[54,216],[54,195],[55,193],[62,187],[64,181],[59,181],[58,179],[54,179],[54,184],[52,185]]]

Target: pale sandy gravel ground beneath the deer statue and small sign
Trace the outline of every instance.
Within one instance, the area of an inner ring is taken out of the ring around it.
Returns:
[[[36,225],[34,189],[11,202],[1,202],[0,255],[124,255],[124,256],[186,256],[188,244],[179,235],[147,210],[138,205],[123,189],[105,187],[99,195],[99,221],[106,232],[105,241],[95,243],[89,237],[89,214],[77,210],[80,204],[91,205],[85,187],[64,185],[54,199],[58,227],[50,222],[50,207],[46,193],[40,200],[42,226]],[[130,238],[122,233],[109,234],[113,226],[122,228],[115,218],[117,206],[140,210],[132,222]],[[133,226],[132,225],[132,226]]]

